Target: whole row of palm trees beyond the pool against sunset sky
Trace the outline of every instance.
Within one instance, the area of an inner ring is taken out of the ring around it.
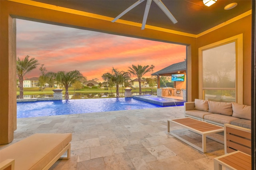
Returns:
[[[24,59],[20,59],[19,57],[16,60],[16,74],[18,76],[18,80],[20,83],[20,98],[23,98],[23,80],[24,75],[28,72],[32,71],[39,65],[38,60],[35,58],[30,58],[28,55]],[[154,69],[154,65],[151,66],[141,66],[141,65],[133,65],[128,67],[128,71],[119,71],[116,68],[112,68],[111,72],[104,73],[102,75],[102,79],[104,80],[103,84],[108,86],[115,86],[116,87],[116,98],[119,98],[119,86],[123,84],[127,84],[129,80],[131,80],[131,75],[134,75],[138,78],[139,82],[139,94],[142,94],[141,90],[141,81],[144,80],[143,75],[147,72],[152,72]],[[53,85],[54,83],[63,84],[66,92],[65,92],[65,99],[68,100],[68,87],[69,84],[74,84],[76,82],[85,82],[86,77],[80,73],[79,70],[73,70],[69,72],[65,71],[58,71],[58,72],[46,72],[46,68],[44,64],[41,65],[39,68],[41,75],[39,76],[39,86],[43,87],[44,84],[47,82],[49,85]],[[154,84],[155,81],[152,76],[149,80],[149,83]]]

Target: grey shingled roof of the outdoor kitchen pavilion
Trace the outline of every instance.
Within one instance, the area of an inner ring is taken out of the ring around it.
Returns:
[[[164,75],[164,74],[172,74],[172,73],[176,73],[178,71],[186,71],[186,61],[182,61],[180,63],[172,64],[172,65],[170,65],[166,68],[163,68],[162,70],[154,72],[151,75],[152,76],[157,76],[157,75]]]

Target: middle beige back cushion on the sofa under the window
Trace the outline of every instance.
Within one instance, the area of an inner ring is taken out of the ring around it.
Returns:
[[[232,103],[231,102],[214,102],[208,101],[209,112],[218,113],[222,115],[232,115]]]

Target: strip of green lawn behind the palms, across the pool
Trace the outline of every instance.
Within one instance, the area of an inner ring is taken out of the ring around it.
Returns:
[[[40,88],[24,88],[24,95],[40,95],[40,94],[53,94],[53,91],[55,88],[45,88],[43,91],[41,91]],[[62,88],[63,89],[63,93],[65,92],[65,88]],[[112,93],[116,93],[116,88],[111,88],[112,89]],[[120,93],[124,93],[124,89],[125,88],[120,88],[119,89],[119,92]],[[142,88],[142,92],[145,92],[146,90],[147,91],[150,91],[150,90],[154,90],[156,91],[156,88]],[[74,91],[74,87],[70,87],[68,88],[68,93],[69,94],[74,94],[75,93],[111,93],[111,90],[110,88],[108,88],[108,90],[105,90],[104,88],[82,88],[80,90],[75,90]],[[133,88],[132,89],[132,92],[139,92],[139,88]],[[20,88],[17,88],[17,95],[20,94]]]

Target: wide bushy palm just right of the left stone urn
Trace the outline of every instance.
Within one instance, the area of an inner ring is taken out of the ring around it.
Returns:
[[[68,87],[70,84],[75,83],[76,81],[81,81],[84,76],[80,71],[74,70],[74,71],[59,71],[57,73],[55,72],[48,72],[44,76],[45,80],[47,82],[57,82],[58,84],[63,84],[66,92],[65,92],[65,99],[68,100]]]

